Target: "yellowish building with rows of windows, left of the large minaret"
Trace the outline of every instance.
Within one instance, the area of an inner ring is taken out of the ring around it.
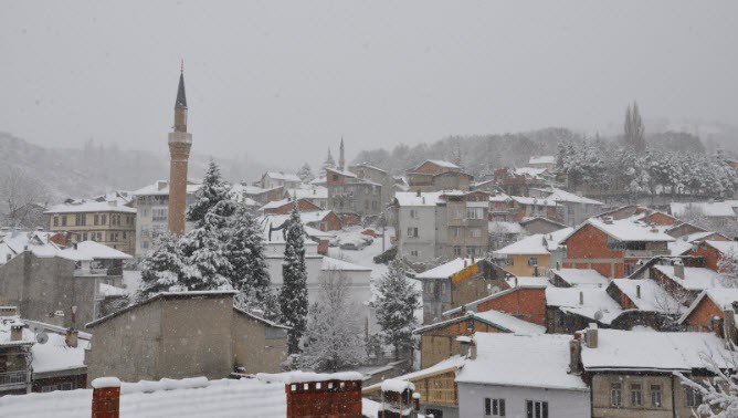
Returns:
[[[74,200],[44,213],[49,230],[68,232],[72,242],[96,241],[133,255],[136,250],[136,209],[119,198]]]

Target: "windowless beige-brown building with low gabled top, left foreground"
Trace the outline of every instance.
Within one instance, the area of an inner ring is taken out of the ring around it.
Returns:
[[[86,325],[89,379],[125,382],[280,370],[287,327],[233,306],[235,292],[159,293]]]

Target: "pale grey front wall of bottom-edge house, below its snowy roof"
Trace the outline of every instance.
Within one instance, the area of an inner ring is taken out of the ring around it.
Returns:
[[[465,418],[484,417],[484,398],[505,399],[506,417],[526,417],[526,400],[548,401],[549,418],[590,416],[590,394],[587,390],[559,390],[465,383],[458,384],[458,415]]]

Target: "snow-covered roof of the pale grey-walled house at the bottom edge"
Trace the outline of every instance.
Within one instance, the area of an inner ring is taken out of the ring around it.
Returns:
[[[456,382],[589,390],[581,377],[568,373],[570,339],[568,335],[476,333],[476,358],[466,360]]]

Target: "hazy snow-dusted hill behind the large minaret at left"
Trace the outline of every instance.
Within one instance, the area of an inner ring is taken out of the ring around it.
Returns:
[[[252,181],[266,170],[245,157],[214,158],[231,181]],[[199,178],[209,156],[190,157],[190,178]],[[169,177],[169,156],[151,151],[123,150],[116,145],[92,142],[82,148],[52,148],[31,144],[0,132],[0,176],[18,168],[48,188],[49,203],[67,197],[91,197],[110,190],[135,190]],[[0,196],[2,199],[2,196]]]

